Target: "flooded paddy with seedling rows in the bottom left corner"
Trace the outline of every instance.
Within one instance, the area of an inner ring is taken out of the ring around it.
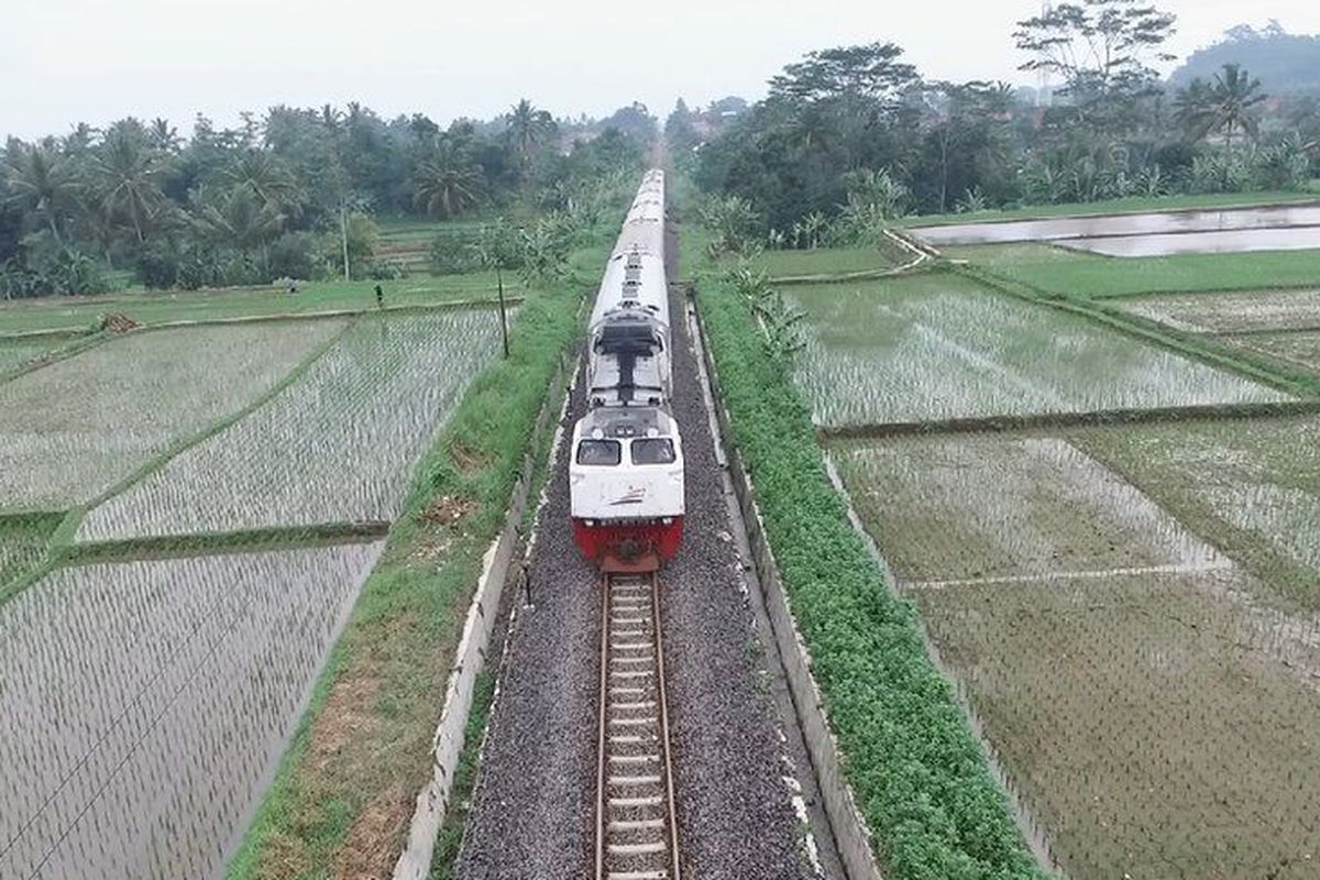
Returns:
[[[381,545],[57,571],[0,607],[0,877],[210,877]]]

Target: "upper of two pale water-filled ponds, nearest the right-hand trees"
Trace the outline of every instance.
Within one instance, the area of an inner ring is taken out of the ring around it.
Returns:
[[[1012,220],[1007,223],[962,223],[957,226],[917,227],[912,232],[939,247],[945,244],[1008,244],[1012,241],[1059,241],[1064,239],[1100,239],[1110,236],[1173,236],[1195,232],[1274,230],[1308,226],[1320,227],[1320,204],[1069,216]],[[1320,235],[1320,230],[1312,230],[1312,235]],[[1311,247],[1320,247],[1320,243]]]

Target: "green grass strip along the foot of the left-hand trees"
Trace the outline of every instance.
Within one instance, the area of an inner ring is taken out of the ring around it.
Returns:
[[[506,278],[507,292],[521,293]],[[124,293],[106,297],[42,297],[0,305],[0,336],[40,331],[90,331],[100,315],[123,313],[141,325],[174,321],[214,321],[315,311],[371,310],[376,307],[376,281],[315,281],[289,296],[284,289],[234,288],[176,293]],[[413,276],[380,281],[387,306],[436,305],[495,297],[495,273]]]

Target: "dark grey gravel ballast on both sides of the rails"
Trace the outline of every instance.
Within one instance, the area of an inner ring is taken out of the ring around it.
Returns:
[[[671,243],[673,239],[671,239]],[[671,248],[673,245],[671,244]],[[682,546],[661,573],[675,800],[684,875],[813,877],[770,682],[731,537],[685,303],[671,297],[673,416],[684,439]],[[570,398],[539,512],[457,876],[590,876],[594,858],[599,578],[569,525]]]

